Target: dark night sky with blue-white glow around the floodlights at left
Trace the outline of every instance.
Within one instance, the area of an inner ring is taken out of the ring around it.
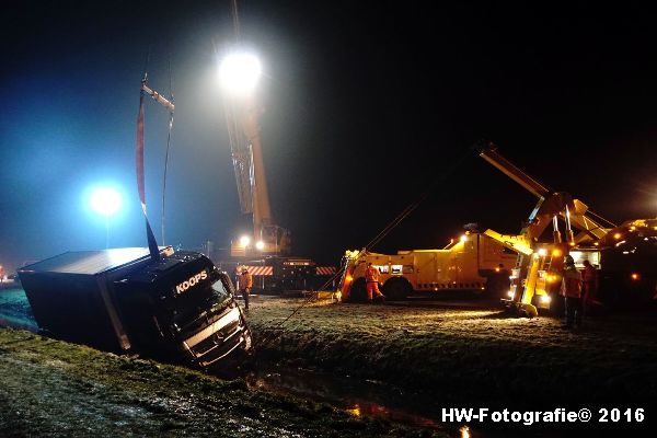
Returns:
[[[481,139],[611,221],[655,217],[653,15],[629,2],[494,3],[240,2],[242,42],[264,69],[272,208],[295,255],[337,263],[435,181],[374,250],[442,247],[469,222],[518,232],[535,199],[469,152]],[[146,245],[135,137],[149,50],[149,85],[172,84],[176,104],[165,243],[227,247],[250,229],[216,72],[233,41],[230,1],[22,1],[0,20],[8,270],[103,249],[104,218],[85,201],[94,185],[124,194],[110,245]],[[159,237],[168,114],[153,101],[146,114]]]

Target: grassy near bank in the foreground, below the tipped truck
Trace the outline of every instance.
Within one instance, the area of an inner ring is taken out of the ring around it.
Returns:
[[[48,338],[28,331],[36,326],[21,293],[0,293],[1,437],[450,436]]]

